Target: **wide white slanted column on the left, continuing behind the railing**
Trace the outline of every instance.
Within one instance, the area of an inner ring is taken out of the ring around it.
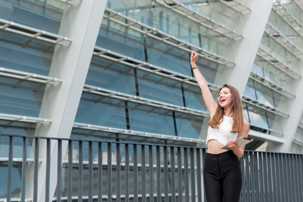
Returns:
[[[73,5],[67,4],[59,34],[73,42],[55,48],[49,75],[62,83],[45,89],[41,117],[52,119],[52,123],[38,125],[36,136],[70,137],[105,7],[106,0],[74,0]],[[57,143],[51,145],[50,202],[57,184],[57,147]],[[63,142],[62,159],[66,148],[67,142]],[[39,159],[43,161],[39,164],[38,201],[45,202],[46,141],[40,144]],[[28,188],[32,180],[28,177]],[[32,191],[28,194],[31,198]]]

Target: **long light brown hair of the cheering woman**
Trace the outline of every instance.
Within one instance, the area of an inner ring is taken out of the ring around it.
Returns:
[[[243,108],[242,108],[242,101],[240,97],[240,93],[237,90],[237,88],[224,84],[223,87],[219,89],[218,95],[222,88],[228,87],[231,93],[232,97],[232,103],[231,103],[231,112],[233,117],[233,123],[232,123],[232,130],[230,132],[241,132],[243,130]],[[223,121],[223,115],[224,115],[224,108],[220,106],[218,103],[215,113],[212,116],[211,120],[207,123],[212,128],[218,129],[220,123]]]

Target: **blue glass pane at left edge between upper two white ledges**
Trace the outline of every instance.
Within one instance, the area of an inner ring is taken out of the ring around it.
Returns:
[[[53,53],[52,44],[0,32],[1,67],[47,76]]]

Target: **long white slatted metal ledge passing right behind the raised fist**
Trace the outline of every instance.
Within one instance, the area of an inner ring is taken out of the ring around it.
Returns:
[[[222,56],[216,55],[215,53],[207,51],[194,44],[184,42],[181,39],[178,39],[177,37],[169,35],[159,29],[152,28],[148,25],[145,25],[139,21],[136,21],[130,17],[127,17],[127,16],[125,16],[119,12],[116,12],[114,10],[111,10],[109,8],[106,8],[106,12],[104,13],[104,18],[109,19],[113,22],[119,23],[120,25],[128,27],[130,29],[134,29],[142,34],[146,34],[154,39],[165,42],[169,45],[172,45],[176,48],[187,51],[189,53],[192,50],[196,50],[198,56],[209,59],[213,62],[217,62],[224,66],[231,67],[231,66],[235,65],[235,63],[233,61],[231,61],[227,58],[223,58]],[[123,20],[123,21],[121,21],[121,20]],[[125,23],[125,21],[127,21],[127,23]]]

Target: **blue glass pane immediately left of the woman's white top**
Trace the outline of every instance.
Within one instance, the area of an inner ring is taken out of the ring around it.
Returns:
[[[200,132],[204,117],[183,113],[175,113],[178,136],[201,139]]]

